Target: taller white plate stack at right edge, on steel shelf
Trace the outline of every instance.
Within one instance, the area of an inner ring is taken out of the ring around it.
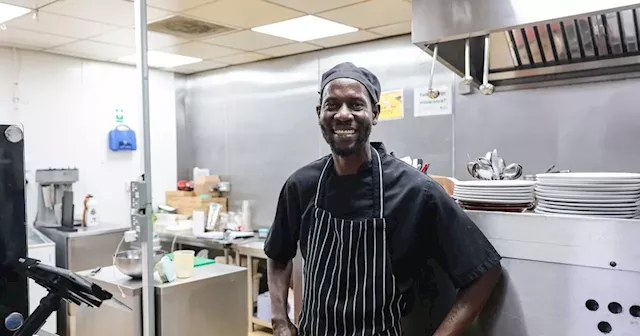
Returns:
[[[537,213],[606,218],[640,215],[640,174],[556,173],[537,175]]]

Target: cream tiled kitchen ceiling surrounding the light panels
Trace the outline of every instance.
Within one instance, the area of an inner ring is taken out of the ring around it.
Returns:
[[[109,62],[122,62],[120,58],[135,53],[131,0],[0,3],[34,10],[0,27],[0,46]],[[150,28],[149,50],[203,59],[168,69],[186,74],[411,32],[411,0],[147,0],[147,4],[149,23],[179,15],[201,24],[182,28],[205,24],[213,32],[167,34]],[[251,30],[310,14],[359,30],[304,42]]]

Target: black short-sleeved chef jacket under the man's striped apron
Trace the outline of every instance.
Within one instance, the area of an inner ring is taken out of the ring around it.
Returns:
[[[440,184],[388,155],[381,143],[372,145],[381,156],[387,241],[393,274],[403,294],[424,274],[427,259],[435,260],[457,288],[468,286],[500,262],[491,243]],[[293,259],[298,241],[306,239],[318,178],[328,159],[326,156],[302,167],[284,184],[265,243],[269,258],[280,262]],[[323,209],[349,220],[377,217],[373,213],[371,161],[354,175],[339,176],[334,170],[327,173],[324,196],[318,200]],[[407,309],[410,307],[411,302]]]

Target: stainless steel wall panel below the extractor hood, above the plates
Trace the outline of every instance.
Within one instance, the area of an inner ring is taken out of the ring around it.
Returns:
[[[457,95],[455,175],[494,148],[525,174],[551,165],[572,171],[640,171],[639,79]]]

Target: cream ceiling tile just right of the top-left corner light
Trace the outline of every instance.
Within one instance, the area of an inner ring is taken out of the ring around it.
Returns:
[[[9,28],[20,28],[73,38],[88,38],[116,29],[115,26],[104,23],[44,12],[40,12],[38,20],[34,20],[31,15],[25,15],[7,22],[6,25]]]

